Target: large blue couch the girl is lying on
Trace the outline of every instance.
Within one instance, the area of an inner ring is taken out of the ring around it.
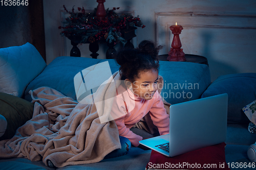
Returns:
[[[104,61],[109,62],[112,73],[119,70],[119,66],[112,59],[57,57],[26,86],[20,99],[30,102],[29,90],[49,86],[76,100],[74,76],[84,68]],[[232,162],[250,163],[247,149],[256,141],[256,134],[248,132],[249,120],[241,109],[256,99],[255,73],[226,75],[210,82],[210,71],[207,65],[160,61],[159,75],[163,77],[165,83],[161,94],[170,104],[228,93],[226,162],[230,165]],[[132,128],[132,130],[143,137],[154,136],[143,129]],[[145,169],[150,156],[151,150],[132,147],[127,155],[118,158],[56,169]],[[55,169],[46,166],[42,161],[31,162],[26,158],[1,159],[0,167],[4,169],[20,169],[20,167],[23,169]],[[230,169],[236,169],[236,167],[230,166]]]

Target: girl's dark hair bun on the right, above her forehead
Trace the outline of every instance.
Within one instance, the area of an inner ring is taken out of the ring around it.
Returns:
[[[150,55],[154,60],[158,60],[158,53],[162,46],[156,46],[152,41],[143,40],[140,42],[138,48],[142,53]]]

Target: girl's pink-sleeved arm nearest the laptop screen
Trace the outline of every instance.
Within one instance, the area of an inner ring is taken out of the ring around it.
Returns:
[[[156,92],[155,95],[156,99],[150,109],[150,116],[160,135],[166,135],[169,133],[169,115],[166,113],[160,94]]]

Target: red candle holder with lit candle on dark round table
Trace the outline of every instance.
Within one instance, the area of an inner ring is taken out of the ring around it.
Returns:
[[[167,60],[169,61],[186,61],[185,53],[183,52],[183,49],[181,48],[181,42],[179,34],[181,33],[181,30],[183,30],[183,27],[178,25],[177,22],[176,25],[170,26],[170,30],[172,30],[172,33],[174,35],[173,42],[172,42],[172,48],[170,48],[170,51],[168,53]]]

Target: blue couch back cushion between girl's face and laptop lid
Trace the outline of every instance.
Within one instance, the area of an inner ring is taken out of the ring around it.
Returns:
[[[159,61],[159,75],[164,86],[161,95],[170,104],[199,99],[210,85],[210,71],[205,64]]]

